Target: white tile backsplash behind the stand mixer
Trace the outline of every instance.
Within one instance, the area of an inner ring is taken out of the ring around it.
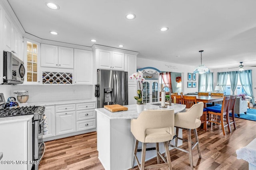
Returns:
[[[4,94],[4,98],[14,96],[14,90],[27,90],[30,102],[52,102],[63,100],[94,100],[94,86],[75,85],[75,86],[52,86],[52,85],[0,85],[0,92]]]

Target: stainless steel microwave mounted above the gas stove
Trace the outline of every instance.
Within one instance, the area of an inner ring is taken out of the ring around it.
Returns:
[[[4,51],[4,84],[22,84],[24,82],[25,67],[22,60],[11,52]]]

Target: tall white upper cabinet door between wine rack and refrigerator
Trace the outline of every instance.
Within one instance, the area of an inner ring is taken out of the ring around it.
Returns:
[[[74,83],[93,84],[92,51],[74,49]]]

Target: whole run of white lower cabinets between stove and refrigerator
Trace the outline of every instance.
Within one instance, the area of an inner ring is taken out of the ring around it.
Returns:
[[[48,134],[44,141],[96,131],[96,103],[84,102],[45,106]]]

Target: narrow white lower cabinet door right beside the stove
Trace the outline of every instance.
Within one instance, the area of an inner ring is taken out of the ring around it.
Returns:
[[[48,124],[48,134],[43,135],[43,138],[55,136],[55,109],[54,106],[46,106],[44,109],[44,114],[47,117]]]

